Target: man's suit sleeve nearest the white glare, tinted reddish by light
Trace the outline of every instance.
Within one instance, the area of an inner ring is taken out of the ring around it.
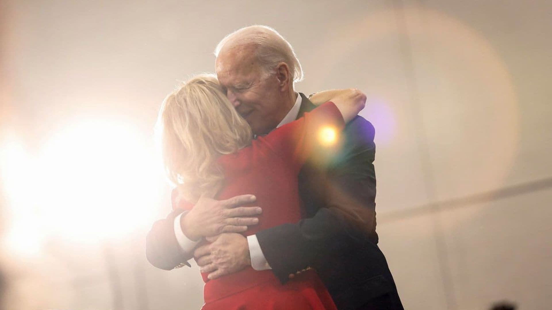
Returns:
[[[179,199],[178,191],[174,189],[171,194],[172,211],[166,218],[153,223],[146,236],[146,258],[153,266],[171,270],[190,266],[193,252],[184,253],[174,234],[174,218],[185,210],[190,210],[192,205]]]

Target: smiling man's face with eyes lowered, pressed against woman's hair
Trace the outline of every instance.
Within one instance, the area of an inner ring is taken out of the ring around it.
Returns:
[[[220,84],[257,135],[273,130],[287,113],[277,75],[262,73],[252,50],[223,49],[216,58]]]

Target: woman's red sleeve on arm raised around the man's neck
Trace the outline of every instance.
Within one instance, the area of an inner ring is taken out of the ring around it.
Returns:
[[[271,131],[264,139],[299,172],[314,149],[324,151],[337,144],[344,126],[337,106],[327,101],[300,119]]]

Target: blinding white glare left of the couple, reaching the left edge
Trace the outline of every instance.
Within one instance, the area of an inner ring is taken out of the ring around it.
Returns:
[[[7,244],[32,254],[48,237],[98,242],[149,226],[162,184],[150,140],[125,122],[89,119],[62,127],[35,158],[15,137],[4,141]]]

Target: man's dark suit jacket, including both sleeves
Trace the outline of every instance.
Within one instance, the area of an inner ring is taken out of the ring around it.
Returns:
[[[315,108],[302,97],[299,116]],[[316,269],[339,309],[401,310],[402,304],[375,232],[374,127],[357,116],[346,126],[339,147],[315,152],[299,174],[304,220],[257,233],[263,254],[282,283],[289,274]],[[362,217],[359,227],[347,211]],[[178,209],[177,209],[178,210]],[[173,211],[153,224],[146,255],[171,270],[190,259],[173,231]]]

